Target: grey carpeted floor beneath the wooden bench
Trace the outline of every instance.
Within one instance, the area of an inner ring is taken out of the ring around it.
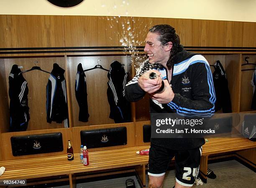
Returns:
[[[194,188],[256,188],[256,173],[236,160],[209,164],[208,168],[214,171],[217,178],[208,178],[206,184],[194,185]],[[77,188],[125,188],[125,180],[128,178],[133,178],[136,188],[140,188],[135,176],[79,183]],[[148,177],[146,177],[146,181],[146,185],[148,185]],[[172,188],[174,183],[175,170],[170,170],[166,172],[163,187]],[[69,186],[56,188],[69,188]]]

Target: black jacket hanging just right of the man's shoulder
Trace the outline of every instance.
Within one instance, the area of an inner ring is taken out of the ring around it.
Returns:
[[[215,110],[218,111],[222,108],[223,113],[232,113],[228,80],[225,70],[219,60],[215,63],[214,68],[213,83],[216,93]]]

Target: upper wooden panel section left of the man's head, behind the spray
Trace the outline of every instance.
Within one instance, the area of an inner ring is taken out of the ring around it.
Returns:
[[[121,46],[131,25],[128,17],[64,16],[65,46]]]

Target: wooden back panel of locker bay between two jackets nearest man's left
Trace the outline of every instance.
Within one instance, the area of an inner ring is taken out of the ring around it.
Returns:
[[[70,75],[71,88],[71,101],[72,101],[72,113],[74,118],[73,126],[84,126],[84,125],[101,125],[114,123],[113,119],[109,118],[110,106],[108,103],[107,89],[108,89],[108,72],[102,69],[94,69],[86,71],[87,81],[87,101],[88,111],[90,114],[89,121],[87,123],[80,122],[79,106],[75,97],[75,80],[77,75],[77,65],[82,63],[84,70],[93,68],[97,65],[97,60],[100,59],[100,65],[103,68],[109,69],[110,64],[117,60],[124,64],[125,70],[127,71],[127,56],[86,56],[86,57],[68,57],[68,70]],[[131,73],[130,73],[131,74]]]

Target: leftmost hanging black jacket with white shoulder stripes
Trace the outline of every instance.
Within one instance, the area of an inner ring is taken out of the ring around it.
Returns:
[[[24,131],[28,127],[28,84],[18,68],[13,65],[9,75],[10,132]]]

